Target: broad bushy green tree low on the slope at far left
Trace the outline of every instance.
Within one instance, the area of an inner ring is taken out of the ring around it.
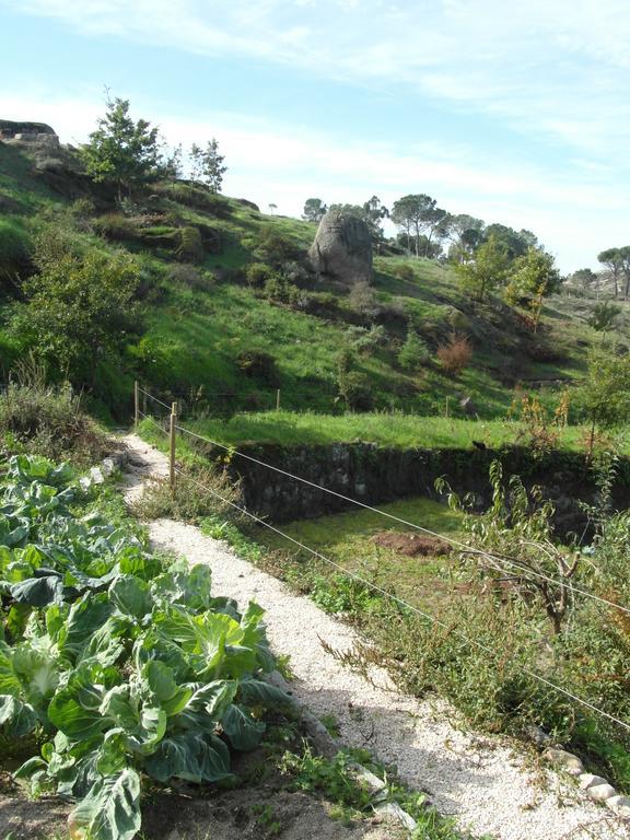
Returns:
[[[70,253],[40,241],[39,273],[24,284],[26,331],[37,352],[74,385],[94,389],[98,363],[116,354],[137,328],[132,305],[139,268],[130,254]]]

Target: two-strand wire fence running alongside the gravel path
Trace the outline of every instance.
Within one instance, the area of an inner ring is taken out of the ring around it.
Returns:
[[[151,395],[148,395],[148,396],[151,396]],[[166,406],[165,402],[161,402],[161,400],[156,400],[156,401],[160,402],[163,407],[170,408],[168,406]],[[149,420],[163,434],[165,434],[165,435],[170,434],[170,432],[166,429],[164,429],[164,427],[162,427],[160,423],[155,422],[155,420],[151,416],[145,415],[142,411],[139,411],[139,415],[142,418]],[[600,596],[596,595],[595,593],[591,593],[591,592],[588,592],[586,590],[582,590],[580,587],[573,586],[568,581],[558,581],[556,579],[552,579],[549,575],[545,575],[544,573],[538,573],[535,570],[529,569],[528,567],[524,567],[515,558],[504,557],[504,556],[502,556],[500,553],[494,555],[494,553],[486,551],[483,549],[478,549],[478,548],[468,546],[467,544],[463,542],[462,540],[455,539],[454,537],[452,537],[450,535],[440,534],[440,533],[438,533],[438,532],[435,532],[435,530],[433,530],[431,528],[427,528],[427,527],[424,527],[422,525],[418,525],[417,523],[413,523],[413,522],[410,522],[408,520],[405,520],[405,518],[401,518],[399,516],[396,516],[394,514],[390,514],[387,511],[382,511],[378,508],[374,508],[373,505],[366,504],[364,502],[360,502],[359,500],[352,499],[351,497],[345,495],[343,493],[338,493],[337,491],[330,490],[329,488],[325,488],[325,487],[323,487],[320,485],[316,485],[315,482],[310,481],[308,479],[305,479],[305,478],[303,478],[301,476],[293,475],[293,474],[291,474],[291,472],[289,472],[287,470],[283,470],[283,469],[279,468],[279,467],[276,467],[276,466],[273,466],[271,464],[267,464],[267,463],[265,463],[265,462],[262,462],[262,460],[260,460],[258,458],[255,458],[255,457],[253,457],[250,455],[247,455],[246,453],[237,452],[236,450],[234,450],[233,447],[231,447],[231,446],[229,446],[226,444],[222,444],[222,443],[220,443],[218,441],[213,441],[213,440],[211,440],[209,438],[206,438],[205,435],[200,435],[197,432],[192,432],[191,430],[186,429],[185,427],[182,427],[178,423],[174,423],[173,424],[173,429],[178,431],[180,434],[190,435],[192,439],[200,440],[200,441],[209,443],[209,444],[211,444],[213,446],[218,446],[218,447],[220,447],[222,450],[229,451],[232,457],[234,457],[234,456],[244,457],[244,458],[246,458],[248,460],[252,460],[252,462],[254,462],[254,463],[256,463],[256,464],[258,464],[260,466],[267,467],[270,470],[275,470],[277,472],[281,472],[282,475],[284,475],[284,476],[287,476],[289,478],[292,478],[292,479],[294,479],[296,481],[301,481],[301,482],[303,482],[305,485],[308,485],[312,488],[317,488],[322,492],[331,493],[335,497],[338,497],[338,498],[340,498],[342,500],[346,500],[346,501],[348,501],[348,502],[350,502],[352,504],[355,504],[355,505],[358,505],[360,508],[363,508],[365,510],[369,510],[369,511],[372,511],[374,513],[377,513],[377,514],[380,514],[380,515],[382,515],[382,516],[384,516],[384,517],[386,517],[388,520],[395,521],[395,522],[397,522],[399,524],[402,524],[402,525],[406,525],[408,527],[411,527],[411,528],[413,528],[416,530],[419,530],[419,532],[421,532],[423,534],[427,534],[427,535],[430,535],[430,536],[435,537],[438,539],[441,539],[441,540],[443,540],[445,542],[448,542],[452,546],[458,548],[459,550],[465,551],[466,553],[471,553],[471,555],[478,556],[480,558],[494,561],[495,563],[499,563],[499,564],[503,563],[505,565],[510,565],[512,568],[516,568],[516,569],[518,569],[521,574],[524,575],[525,578],[533,575],[533,576],[542,579],[544,581],[549,582],[549,583],[551,583],[551,584],[553,584],[553,585],[556,585],[558,587],[565,587],[574,596],[575,595],[580,595],[582,597],[591,598],[594,602],[604,604],[604,605],[606,605],[608,607],[611,607],[611,608],[614,608],[616,610],[620,610],[620,611],[622,611],[625,614],[630,614],[630,609],[625,607],[625,606],[622,606],[622,605],[620,605],[620,604],[617,604],[617,603],[615,603],[612,600],[609,600],[607,598],[600,597]],[[173,447],[172,447],[172,451],[173,451]],[[189,481],[190,483],[198,486],[200,489],[202,489],[206,492],[209,492],[211,495],[213,495],[214,498],[217,498],[218,500],[220,500],[224,504],[226,504],[230,508],[238,511],[244,516],[246,516],[249,520],[256,522],[258,525],[269,529],[273,534],[282,537],[288,542],[293,544],[294,546],[296,546],[301,550],[306,551],[308,555],[315,557],[316,559],[318,559],[319,561],[326,563],[330,568],[334,568],[336,571],[338,571],[339,573],[346,575],[347,578],[352,579],[352,580],[357,581],[358,583],[361,583],[363,586],[368,587],[372,592],[378,594],[382,597],[385,597],[385,598],[389,599],[390,602],[395,603],[397,606],[402,607],[402,608],[409,610],[410,612],[416,614],[416,615],[424,618],[425,620],[430,621],[432,625],[435,625],[438,627],[441,627],[442,629],[448,630],[450,632],[454,633],[459,640],[462,640],[466,644],[469,644],[469,645],[471,645],[474,648],[477,648],[478,650],[480,650],[480,651],[482,651],[485,653],[488,653],[488,654],[491,654],[491,655],[495,654],[494,650],[492,650],[488,645],[483,644],[478,639],[474,639],[474,638],[467,635],[466,633],[462,632],[462,630],[459,628],[453,627],[452,625],[447,625],[446,622],[442,621],[439,617],[432,615],[431,612],[428,612],[427,610],[420,609],[419,607],[410,604],[409,602],[398,597],[394,593],[388,592],[384,587],[378,586],[378,584],[374,583],[373,581],[370,581],[366,578],[363,578],[362,575],[358,574],[357,572],[353,572],[353,571],[347,569],[346,567],[341,565],[340,563],[338,563],[335,560],[332,560],[331,558],[329,558],[326,555],[324,555],[322,551],[318,551],[317,549],[312,548],[311,546],[302,542],[301,540],[296,539],[295,537],[291,536],[290,534],[287,534],[284,530],[282,530],[281,528],[277,527],[276,525],[272,525],[271,523],[267,522],[265,518],[258,516],[257,514],[253,513],[252,511],[248,511],[244,505],[237,504],[236,502],[234,502],[234,501],[232,501],[230,499],[226,499],[221,493],[219,493],[214,488],[211,488],[207,483],[197,480],[196,478],[194,478],[189,474],[184,472],[180,467],[175,465],[174,466],[174,471],[175,471],[176,475],[185,478],[186,481]],[[503,567],[500,565],[500,569],[503,570]],[[619,725],[620,727],[622,727],[627,732],[630,732],[630,724],[628,724],[627,722],[620,720],[616,715],[610,714],[609,712],[605,711],[604,709],[598,708],[597,705],[595,705],[591,701],[585,700],[584,698],[579,697],[578,695],[573,693],[572,691],[569,691],[568,689],[565,689],[564,687],[558,685],[553,680],[550,680],[547,677],[542,676],[541,674],[539,674],[539,673],[537,673],[537,672],[535,672],[535,670],[533,670],[530,668],[527,668],[525,666],[521,667],[521,672],[524,675],[526,675],[526,676],[530,677],[532,679],[534,679],[535,681],[539,682],[540,685],[544,685],[547,688],[551,688],[553,691],[556,691],[556,692],[562,695],[563,697],[567,697],[568,699],[579,703],[583,708],[586,708],[590,711],[595,712],[596,714],[599,714],[600,716],[605,718],[606,720],[615,723],[616,725]]]

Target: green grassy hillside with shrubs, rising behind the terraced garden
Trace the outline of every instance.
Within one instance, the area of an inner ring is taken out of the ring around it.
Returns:
[[[50,154],[0,143],[1,378],[33,343],[15,327],[18,278],[32,271],[33,242],[50,230],[79,253],[124,249],[141,266],[138,329],[96,376],[100,405],[119,418],[136,377],[165,401],[211,415],[270,409],[278,388],[284,409],[342,413],[339,361],[347,350],[351,378],[361,383],[353,408],[462,416],[459,401],[469,397],[479,417],[492,419],[504,417],[523,389],[553,402],[580,380],[588,347],[600,341],[587,324],[591,300],[550,300],[534,335],[498,299],[474,305],[448,266],[400,255],[376,257],[373,293],[357,300],[308,271],[311,223],[184,182],[155,184],[120,208],[81,174],[71,152]],[[253,264],[262,266],[266,282]],[[628,315],[618,320],[626,341]],[[425,343],[412,369],[398,360],[409,331]],[[457,375],[436,358],[452,332],[472,347]]]

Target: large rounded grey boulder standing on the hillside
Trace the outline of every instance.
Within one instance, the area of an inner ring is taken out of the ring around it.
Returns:
[[[317,275],[347,285],[372,279],[372,240],[361,219],[329,210],[319,222],[308,252]]]

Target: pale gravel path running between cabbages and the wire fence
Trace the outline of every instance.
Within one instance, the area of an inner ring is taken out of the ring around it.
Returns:
[[[148,472],[166,471],[166,459],[135,435],[125,441],[132,456],[126,493],[132,499]],[[343,744],[366,747],[395,763],[407,784],[425,791],[462,828],[497,840],[630,840],[629,828],[610,812],[555,772],[535,768],[517,744],[462,732],[450,722],[454,714],[445,703],[400,693],[382,670],[370,675],[375,687],[342,666],[322,641],[349,650],[355,633],[223,542],[171,520],[149,527],[156,547],[190,563],[208,563],[215,594],[260,604],[273,649],[291,656],[300,700],[317,716],[334,714]]]

